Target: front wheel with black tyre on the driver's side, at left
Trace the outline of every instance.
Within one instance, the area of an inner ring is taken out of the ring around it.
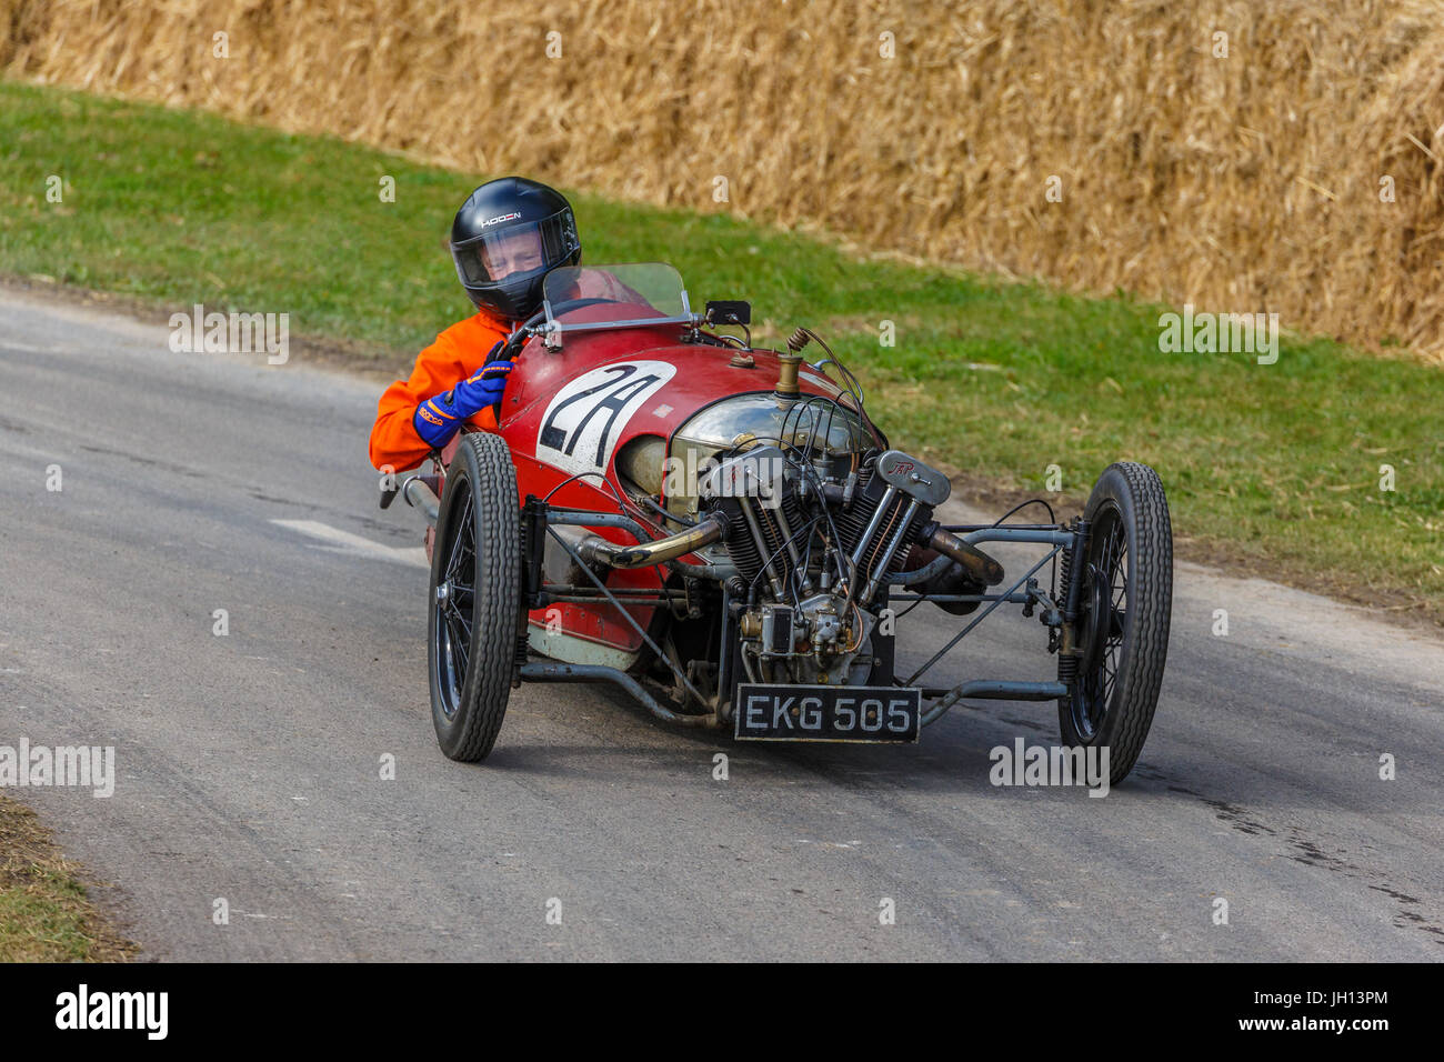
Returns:
[[[456,446],[432,549],[426,624],[432,722],[453,760],[482,760],[511,695],[521,607],[517,472],[497,435]]]

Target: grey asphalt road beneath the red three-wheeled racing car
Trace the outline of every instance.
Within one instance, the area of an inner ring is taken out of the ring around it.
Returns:
[[[1444,958],[1444,643],[1180,565],[1154,730],[1103,799],[989,783],[1051,705],[758,747],[531,685],[464,766],[427,711],[422,523],[375,507],[377,386],[166,335],[0,295],[0,744],[117,773],[12,795],[152,957]],[[918,608],[905,660],[959,623]],[[943,678],[1047,676],[1043,634],[1014,610]]]

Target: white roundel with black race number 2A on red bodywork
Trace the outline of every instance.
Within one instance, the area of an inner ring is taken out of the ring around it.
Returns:
[[[669,361],[618,361],[556,393],[537,432],[537,459],[573,475],[604,472],[627,422],[676,376]]]

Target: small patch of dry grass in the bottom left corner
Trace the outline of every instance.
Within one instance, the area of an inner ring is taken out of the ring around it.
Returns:
[[[35,812],[0,796],[0,962],[123,962],[134,954]]]

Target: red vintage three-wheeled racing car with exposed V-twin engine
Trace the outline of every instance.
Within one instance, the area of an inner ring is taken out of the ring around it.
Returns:
[[[484,759],[523,682],[601,681],[738,740],[917,741],[963,699],[1056,701],[1064,743],[1108,747],[1121,780],[1168,649],[1158,475],[1110,465],[1067,522],[944,524],[949,478],[890,446],[826,342],[760,348],[749,325],[739,301],[693,312],[670,266],[553,270],[492,354],[516,363],[498,429],[383,491],[429,522],[442,751]],[[1041,556],[1008,578],[993,542]],[[898,608],[918,601],[970,618],[900,675]],[[1057,679],[926,685],[1004,604],[1037,614]]]

